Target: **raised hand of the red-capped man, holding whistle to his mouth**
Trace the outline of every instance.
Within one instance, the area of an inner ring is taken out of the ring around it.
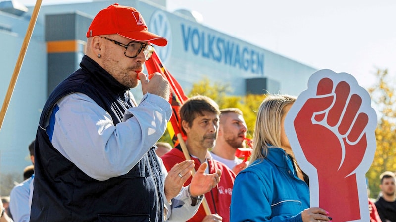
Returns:
[[[162,74],[158,72],[150,74],[149,81],[147,76],[142,72],[140,72],[138,76],[142,83],[143,95],[148,92],[151,94],[158,95],[164,98],[165,100],[169,100],[170,86],[168,81],[162,76]]]

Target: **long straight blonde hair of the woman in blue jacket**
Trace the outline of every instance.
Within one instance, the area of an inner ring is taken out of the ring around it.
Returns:
[[[253,133],[253,151],[250,163],[257,159],[264,159],[267,149],[281,147],[281,119],[283,108],[296,101],[290,95],[268,95],[261,103]]]

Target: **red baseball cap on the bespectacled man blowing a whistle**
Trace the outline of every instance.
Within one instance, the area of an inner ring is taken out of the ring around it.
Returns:
[[[148,32],[145,20],[135,8],[117,3],[99,11],[88,29],[87,38],[107,34],[118,34],[133,41],[148,41],[158,46],[168,43],[166,38]]]

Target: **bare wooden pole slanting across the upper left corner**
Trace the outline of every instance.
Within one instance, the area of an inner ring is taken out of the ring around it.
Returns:
[[[32,37],[33,29],[37,21],[37,16],[39,15],[41,2],[42,0],[37,0],[36,5],[34,6],[33,14],[32,17],[30,18],[28,30],[26,31],[26,35],[25,38],[23,39],[23,43],[21,46],[21,51],[19,52],[18,60],[16,61],[14,73],[11,76],[11,81],[8,86],[7,94],[5,95],[3,106],[1,107],[0,130],[4,122],[5,113],[7,112],[9,102],[11,101],[12,93],[14,92],[16,80],[18,79],[19,72],[21,71],[23,59],[25,58],[26,50],[28,48],[30,38]]]

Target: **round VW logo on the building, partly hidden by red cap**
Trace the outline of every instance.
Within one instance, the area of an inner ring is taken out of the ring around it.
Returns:
[[[172,51],[172,32],[170,23],[166,14],[157,10],[151,15],[149,30],[157,35],[165,37],[168,40],[168,44],[165,47],[156,47],[155,51],[157,52],[159,58],[165,63],[171,54]]]

